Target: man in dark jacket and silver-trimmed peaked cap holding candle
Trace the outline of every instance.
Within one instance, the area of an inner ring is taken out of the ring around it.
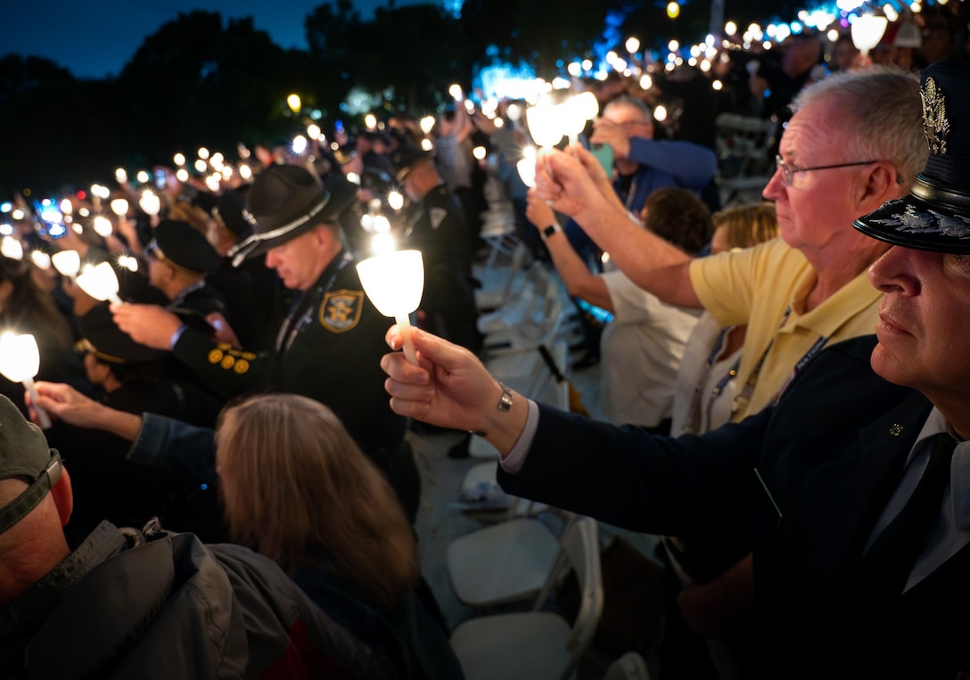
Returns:
[[[537,405],[417,331],[420,368],[383,359],[395,409],[486,433],[515,496],[653,534],[753,520],[752,677],[970,677],[970,66],[927,67],[921,97],[925,168],[855,221],[886,247],[876,335],[824,349],[777,404],[651,436]]]

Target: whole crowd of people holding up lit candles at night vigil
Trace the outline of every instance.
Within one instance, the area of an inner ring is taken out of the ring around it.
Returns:
[[[655,118],[674,78],[597,83],[531,188],[506,102],[259,146],[217,191],[165,170],[160,210],[75,193],[57,238],[18,197],[0,322],[41,361],[29,394],[0,378],[4,677],[463,677],[413,529],[410,437],[439,430],[495,445],[508,493],[662,537],[663,678],[970,672],[970,67],[909,27],[741,66],[724,101],[779,123],[754,204],[721,205],[698,118]],[[489,182],[576,302],[608,422],[484,369]],[[424,259],[413,331],[355,267],[378,215]],[[119,300],[77,280],[102,262]]]

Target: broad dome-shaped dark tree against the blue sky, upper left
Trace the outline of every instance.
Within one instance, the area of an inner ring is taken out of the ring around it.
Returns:
[[[223,28],[217,13],[179,14],[148,36],[117,79],[133,124],[127,142],[154,162],[176,150],[235,147],[282,134],[286,95],[309,57],[286,52],[251,18]]]

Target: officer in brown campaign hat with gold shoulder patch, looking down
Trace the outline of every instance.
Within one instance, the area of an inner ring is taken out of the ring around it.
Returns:
[[[272,389],[328,405],[413,519],[420,478],[404,440],[406,421],[387,403],[379,366],[389,321],[364,294],[340,240],[340,214],[354,206],[356,189],[338,176],[325,185],[294,165],[270,166],[253,181],[246,199],[253,233],[229,256],[239,264],[265,255],[287,289],[271,350],[213,343],[159,308],[115,305],[114,319],[135,340],[171,349],[227,398]]]

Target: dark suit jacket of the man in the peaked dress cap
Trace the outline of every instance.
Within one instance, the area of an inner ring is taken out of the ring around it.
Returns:
[[[833,345],[778,405],[702,437],[541,406],[525,465],[500,470],[501,486],[654,534],[753,521],[765,676],[954,678],[970,671],[970,551],[878,610],[863,610],[850,585],[932,408],[872,372],[875,343]]]

